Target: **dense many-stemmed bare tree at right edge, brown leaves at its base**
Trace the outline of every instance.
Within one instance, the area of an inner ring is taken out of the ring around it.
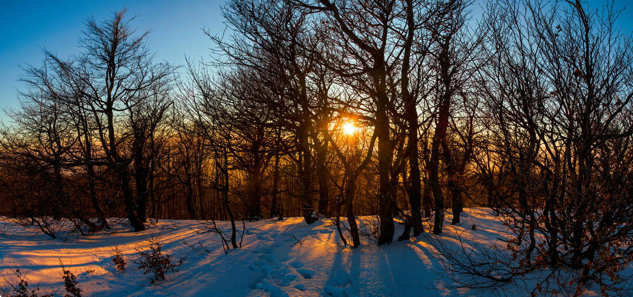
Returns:
[[[486,175],[504,176],[489,187],[508,236],[494,255],[449,265],[469,270],[461,280],[475,276],[462,283],[470,288],[534,277],[524,282],[533,294],[580,296],[589,282],[605,295],[630,293],[630,277],[618,271],[632,253],[622,245],[633,219],[622,167],[632,162],[632,43],[615,29],[612,6],[560,5],[507,1],[489,9],[495,59],[482,70],[494,121],[489,162],[498,169]],[[499,261],[510,269],[493,276]]]

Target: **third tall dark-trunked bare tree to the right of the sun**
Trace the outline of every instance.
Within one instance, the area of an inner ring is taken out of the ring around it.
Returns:
[[[455,177],[458,175],[456,162],[447,143],[447,131],[454,112],[455,97],[465,96],[477,68],[482,64],[480,46],[482,37],[479,32],[469,32],[467,27],[468,3],[450,1],[444,13],[437,16],[437,26],[430,28],[436,42],[430,54],[436,60],[435,97],[437,100],[437,118],[428,162],[429,185],[435,200],[435,218],[433,233],[442,233],[444,224],[444,194],[439,182],[440,159],[446,162],[448,188],[458,196]],[[456,209],[458,212],[459,209]],[[455,214],[453,214],[455,215]]]

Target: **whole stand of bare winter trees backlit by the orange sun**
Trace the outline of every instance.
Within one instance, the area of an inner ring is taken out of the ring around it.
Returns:
[[[135,231],[227,221],[227,248],[242,221],[327,217],[357,248],[441,234],[445,214],[460,224],[478,207],[511,257],[446,252],[458,284],[576,271],[570,294],[621,289],[633,39],[619,11],[501,0],[475,18],[473,5],[229,0],[225,35],[201,34],[211,58],[186,65],[154,61],[127,9],[87,18],[79,54],[23,67],[0,130],[0,215],[51,238],[111,217]]]

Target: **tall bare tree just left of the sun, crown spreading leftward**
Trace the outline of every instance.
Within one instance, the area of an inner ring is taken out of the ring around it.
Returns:
[[[274,92],[274,100],[266,104],[283,119],[283,128],[296,135],[294,149],[298,154],[289,156],[298,166],[297,196],[303,217],[311,224],[318,219],[311,198],[313,143],[318,149],[327,149],[327,146],[322,136],[314,134],[318,130],[315,127],[318,116],[313,107],[315,101],[323,99],[323,94],[318,94],[318,79],[310,76],[317,63],[306,58],[303,51],[303,45],[314,37],[308,35],[309,14],[287,1],[236,0],[225,9],[224,15],[236,32],[234,42],[211,38],[218,44],[218,51],[229,58],[223,65],[239,65],[255,71]],[[311,142],[311,136],[317,141]]]

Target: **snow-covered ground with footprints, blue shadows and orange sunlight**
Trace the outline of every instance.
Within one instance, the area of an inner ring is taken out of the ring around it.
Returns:
[[[454,244],[461,238],[487,240],[499,237],[500,224],[486,212],[468,209],[459,226],[449,226],[446,217],[440,238]],[[228,229],[226,222],[221,222]],[[16,283],[11,270],[14,263],[22,273],[28,270],[29,288],[37,282],[43,291],[51,293],[63,288],[60,260],[70,269],[83,290],[83,296],[454,296],[458,291],[444,289],[441,265],[430,234],[408,241],[377,247],[364,244],[356,250],[341,247],[336,227],[329,219],[306,224],[302,218],[284,221],[246,222],[242,248],[225,253],[214,233],[196,233],[196,221],[161,220],[149,225],[147,231],[134,233],[130,227],[116,226],[106,233],[70,238],[63,242],[35,229],[8,226],[0,221],[0,272]],[[472,225],[477,226],[472,230]],[[241,226],[241,224],[239,225]],[[2,235],[2,231],[6,236]],[[428,228],[427,228],[428,231]],[[396,238],[402,226],[396,227]],[[151,236],[166,243],[163,254],[174,260],[190,253],[180,271],[166,274],[166,279],[149,283],[150,276],[137,270],[132,259]],[[239,238],[239,236],[238,236]],[[302,240],[301,245],[298,240]],[[191,253],[183,241],[197,245],[200,241],[210,253]],[[126,258],[127,268],[117,270],[112,263],[113,248],[118,246]],[[0,279],[0,288],[9,286]],[[10,291],[9,291],[10,293]],[[58,291],[60,294],[61,291]],[[65,294],[65,291],[63,292]],[[527,296],[508,287],[506,296]],[[591,294],[591,292],[589,293]],[[61,295],[61,294],[60,294]],[[471,291],[467,296],[488,296]]]

